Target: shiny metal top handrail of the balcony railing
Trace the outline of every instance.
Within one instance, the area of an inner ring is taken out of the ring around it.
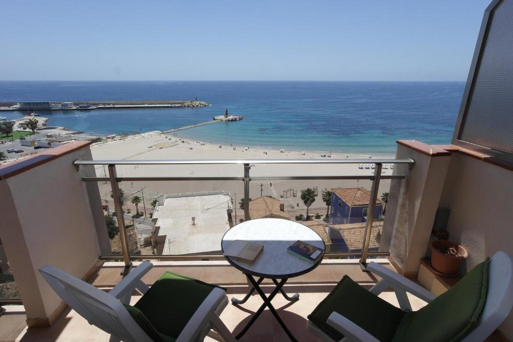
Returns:
[[[180,160],[75,160],[74,165],[208,165],[208,164],[415,164],[415,160],[367,159],[180,159]]]

